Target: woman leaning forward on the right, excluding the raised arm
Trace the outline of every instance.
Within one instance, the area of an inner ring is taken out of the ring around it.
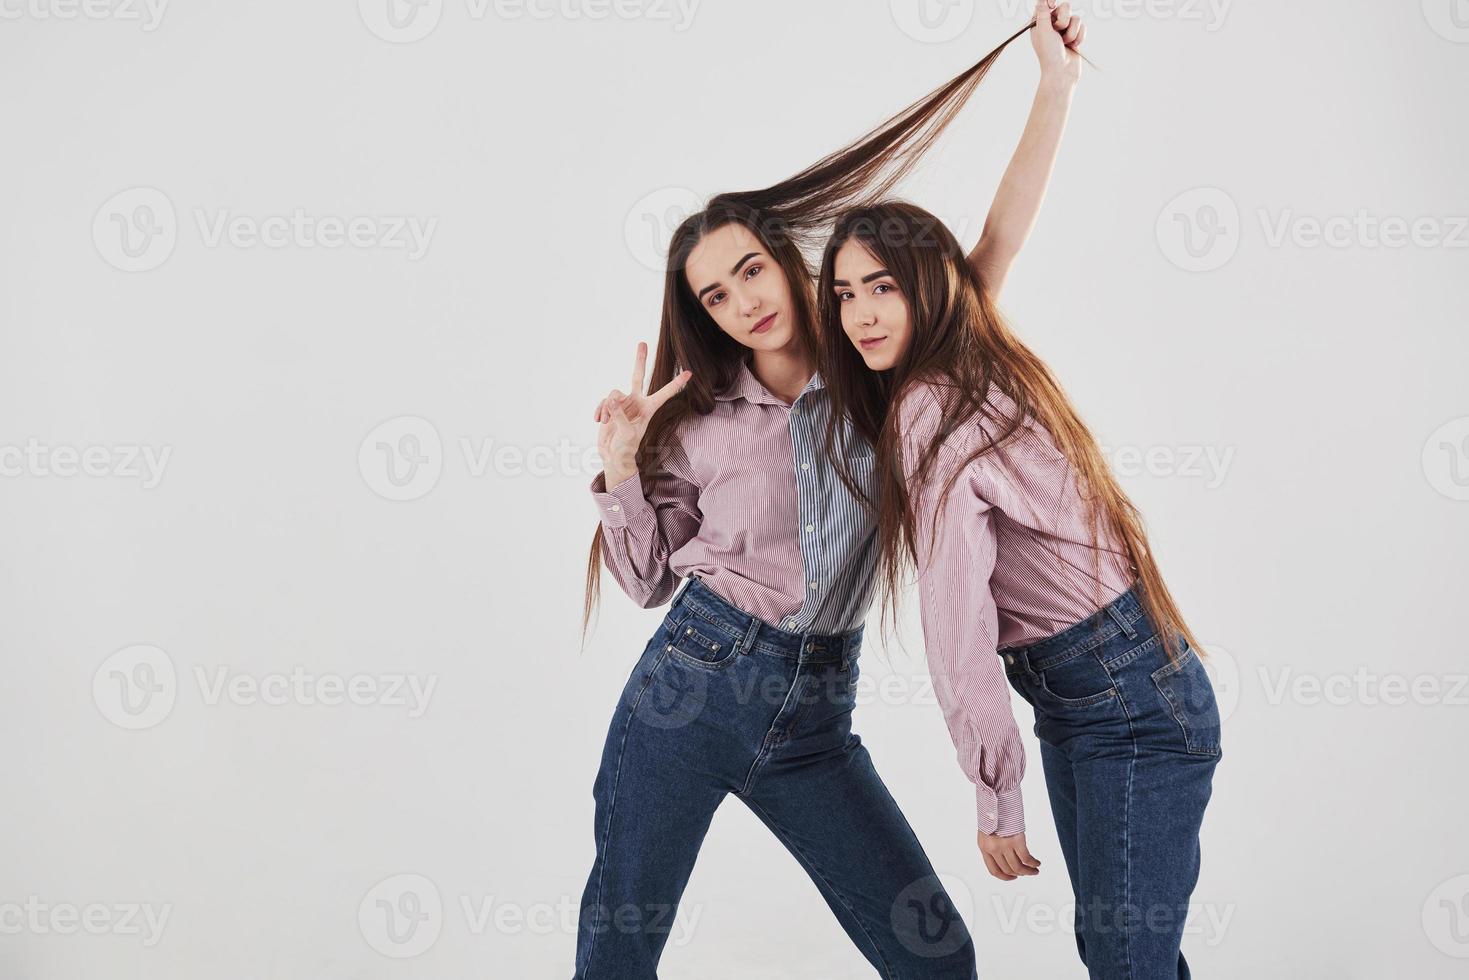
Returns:
[[[877,447],[889,610],[917,566],[924,641],[989,871],[1025,846],[1031,704],[1094,979],[1187,977],[1180,952],[1219,714],[1137,510],[1046,366],[995,309],[983,250],[903,203],[859,207],[821,264],[827,445]],[[845,419],[843,419],[845,417]],[[836,454],[843,480],[849,472]]]

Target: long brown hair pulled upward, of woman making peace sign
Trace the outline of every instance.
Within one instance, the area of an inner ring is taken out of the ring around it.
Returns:
[[[648,478],[660,469],[670,436],[686,417],[714,410],[715,392],[733,381],[746,354],[745,347],[718,328],[689,287],[685,266],[695,245],[710,232],[736,222],[754,232],[790,284],[796,338],[814,354],[817,341],[812,326],[817,317],[808,256],[814,259],[818,254],[823,232],[842,212],[880,200],[912,170],[968,101],[1000,51],[1033,26],[1034,21],[962,73],[795,176],[759,191],[720,194],[710,200],[705,210],[679,225],[668,244],[663,319],[649,391],[663,388],[685,369],[693,372],[693,378],[649,420],[638,450],[639,475]],[[586,560],[583,636],[601,595],[601,579],[602,527],[598,525]]]

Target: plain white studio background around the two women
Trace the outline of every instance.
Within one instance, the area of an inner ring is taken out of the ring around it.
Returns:
[[[1103,71],[1003,304],[1215,651],[1185,952],[1463,976],[1469,3],[1084,6]],[[0,976],[570,976],[601,742],[660,617],[608,580],[580,649],[591,414],[655,338],[660,235],[1028,10],[0,12]],[[1036,78],[1021,41],[903,188],[965,244]],[[328,226],[251,238],[295,210]],[[378,444],[413,438],[394,486]],[[981,976],[1081,976],[1039,758],[1044,873],[995,882],[915,605],[906,654],[864,654],[856,729]],[[358,704],[272,688],[295,670]],[[391,932],[379,902],[416,898]],[[671,979],[871,976],[733,801],[683,917]]]

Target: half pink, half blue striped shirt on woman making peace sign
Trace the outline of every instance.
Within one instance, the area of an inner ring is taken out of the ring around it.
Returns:
[[[792,404],[749,370],[715,395],[714,411],[679,426],[648,480],[592,480],[602,557],[639,605],[667,602],[698,574],[715,594],[792,633],[862,624],[877,564],[873,516],[821,451],[830,392],[814,375]],[[848,458],[876,497],[876,460],[853,439]]]

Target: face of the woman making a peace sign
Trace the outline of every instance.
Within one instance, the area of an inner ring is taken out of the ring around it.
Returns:
[[[683,275],[699,304],[739,344],[779,351],[795,342],[790,282],[743,225],[705,235],[689,253]]]

